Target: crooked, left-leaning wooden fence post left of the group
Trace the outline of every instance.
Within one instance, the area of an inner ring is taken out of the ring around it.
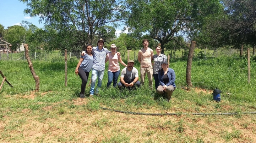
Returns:
[[[28,55],[28,44],[24,44],[24,48],[25,48],[25,56],[26,56],[26,59],[28,61],[28,67],[32,73],[32,76],[34,77],[34,80],[36,81],[36,92],[39,91],[39,85],[40,85],[40,81],[39,81],[39,77],[36,75],[35,73],[35,70],[33,68],[33,64],[29,58],[29,55]]]

